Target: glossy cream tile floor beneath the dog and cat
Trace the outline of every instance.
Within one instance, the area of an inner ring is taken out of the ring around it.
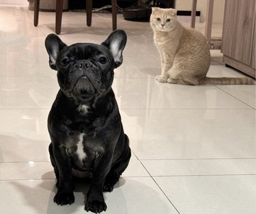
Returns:
[[[4,214],[86,213],[88,186],[76,183],[71,206],[56,192],[46,127],[58,90],[44,39],[55,14],[0,7],[0,207]],[[160,61],[148,22],[118,16],[128,34],[113,89],[133,155],[106,213],[255,214],[255,86],[184,86],[156,82]],[[111,16],[64,13],[61,39],[102,42]],[[209,76],[242,76],[212,52]]]

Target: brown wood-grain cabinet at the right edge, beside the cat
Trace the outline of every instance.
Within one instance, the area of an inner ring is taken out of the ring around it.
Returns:
[[[255,78],[255,0],[226,0],[223,61]]]

